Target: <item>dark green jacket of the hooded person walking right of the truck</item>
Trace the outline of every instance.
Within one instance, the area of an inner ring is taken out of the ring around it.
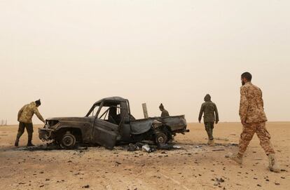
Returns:
[[[212,101],[206,101],[200,107],[200,115],[198,116],[198,121],[201,121],[203,116],[204,122],[214,122],[219,121],[219,111],[217,110],[216,104]]]

